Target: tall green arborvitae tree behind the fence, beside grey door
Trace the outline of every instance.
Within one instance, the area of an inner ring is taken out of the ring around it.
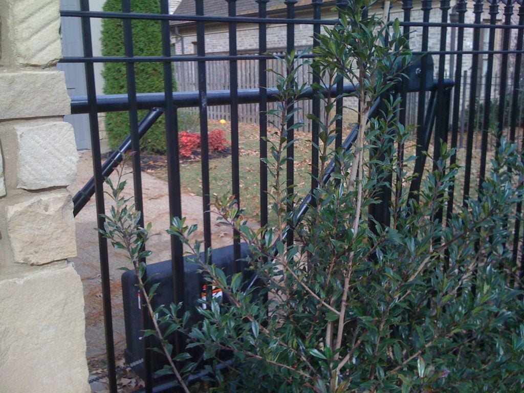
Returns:
[[[107,0],[104,11],[122,12],[122,0]],[[136,13],[159,13],[160,2],[155,0],[133,0],[131,11]],[[133,50],[135,56],[162,56],[162,36],[160,21],[133,20]],[[102,55],[125,56],[124,30],[122,19],[103,19],[102,21]],[[105,63],[102,72],[105,94],[126,94],[125,63]],[[137,93],[163,92],[163,63],[135,63]],[[176,82],[173,79],[173,90]],[[139,111],[138,120],[146,114]],[[110,147],[115,149],[129,135],[128,112],[109,112],[106,114],[105,126]],[[140,141],[141,148],[150,153],[163,154],[166,151],[165,121],[163,116],[149,129]]]

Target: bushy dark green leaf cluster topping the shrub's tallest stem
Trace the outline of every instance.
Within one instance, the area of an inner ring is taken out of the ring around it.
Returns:
[[[319,46],[313,69],[321,75],[321,88],[326,81],[335,85],[340,79],[356,87],[355,96],[367,105],[380,94],[390,90],[410,61],[408,37],[403,35],[399,20],[391,25],[372,11],[375,2],[348,2],[341,10],[340,23],[324,27],[315,36]],[[387,20],[387,18],[386,18]]]

